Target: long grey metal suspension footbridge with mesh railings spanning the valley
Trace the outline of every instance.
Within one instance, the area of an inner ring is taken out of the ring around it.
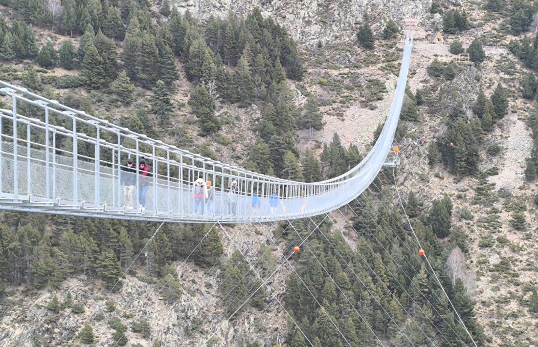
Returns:
[[[406,39],[392,107],[372,150],[345,174],[315,183],[204,158],[0,81],[0,93],[12,101],[11,110],[0,110],[0,209],[200,223],[268,222],[327,213],[362,194],[384,166],[404,100],[412,46],[413,39]],[[122,171],[128,158],[136,168],[142,157],[148,175]],[[213,206],[203,214],[195,211],[197,178],[212,181],[214,187]],[[122,185],[125,180],[134,181],[131,190]],[[144,206],[140,193],[146,197]],[[258,203],[253,203],[253,194]],[[129,196],[131,207],[125,201]]]

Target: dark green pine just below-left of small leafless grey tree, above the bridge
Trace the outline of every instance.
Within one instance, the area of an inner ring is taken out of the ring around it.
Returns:
[[[188,101],[194,115],[200,121],[200,128],[206,134],[217,132],[221,124],[215,117],[215,102],[204,86],[194,87]]]

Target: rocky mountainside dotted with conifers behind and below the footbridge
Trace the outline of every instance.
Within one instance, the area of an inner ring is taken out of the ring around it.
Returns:
[[[0,0],[0,81],[306,183],[369,159],[413,37],[391,151],[335,210],[161,223],[13,211],[0,194],[0,346],[538,345],[536,28],[536,0]],[[0,89],[10,112],[42,117]],[[16,128],[0,121],[0,152]],[[188,177],[204,218],[224,183]]]

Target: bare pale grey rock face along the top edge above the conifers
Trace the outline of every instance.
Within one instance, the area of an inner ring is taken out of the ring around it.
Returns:
[[[388,19],[401,23],[404,18],[411,17],[422,24],[440,20],[439,15],[433,16],[429,12],[432,0],[172,0],[171,3],[181,13],[188,10],[202,20],[210,16],[226,17],[229,11],[245,14],[258,6],[264,16],[272,16],[285,25],[301,44],[349,39],[355,35],[366,14],[373,28],[380,30]]]

